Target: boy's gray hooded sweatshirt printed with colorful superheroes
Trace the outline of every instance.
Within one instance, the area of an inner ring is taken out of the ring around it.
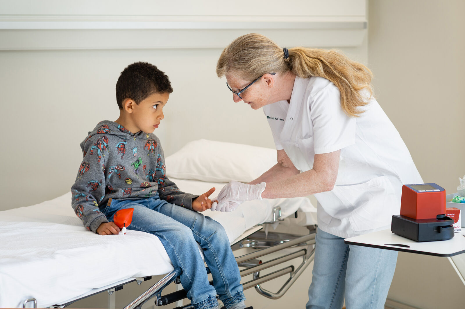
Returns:
[[[105,120],[80,146],[84,160],[71,187],[71,205],[88,230],[96,232],[108,222],[100,209],[110,198],[138,200],[159,194],[162,200],[192,210],[198,195],[179,191],[166,177],[163,149],[154,134],[132,134]]]

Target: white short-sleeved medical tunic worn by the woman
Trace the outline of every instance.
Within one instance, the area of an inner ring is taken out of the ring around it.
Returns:
[[[341,150],[334,188],[317,193],[318,227],[348,238],[389,228],[403,184],[423,180],[399,132],[372,98],[350,117],[339,89],[322,77],[296,77],[290,103],[263,107],[276,144],[301,172],[314,155]]]

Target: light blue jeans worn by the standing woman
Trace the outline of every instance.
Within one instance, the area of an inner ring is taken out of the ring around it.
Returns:
[[[384,309],[397,251],[344,244],[318,229],[307,309]]]

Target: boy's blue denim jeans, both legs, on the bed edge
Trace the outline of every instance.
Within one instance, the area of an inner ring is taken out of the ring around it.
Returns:
[[[160,200],[158,194],[141,200],[112,200],[102,212],[113,221],[114,213],[124,208],[134,208],[127,229],[157,236],[173,266],[182,269],[181,284],[194,308],[218,306],[217,293],[226,308],[245,300],[239,268],[222,225],[199,212]],[[197,243],[212,273],[214,287],[208,282]]]

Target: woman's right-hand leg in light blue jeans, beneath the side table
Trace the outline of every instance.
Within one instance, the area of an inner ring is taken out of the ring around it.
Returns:
[[[349,246],[345,306],[384,309],[397,263],[397,251]]]

